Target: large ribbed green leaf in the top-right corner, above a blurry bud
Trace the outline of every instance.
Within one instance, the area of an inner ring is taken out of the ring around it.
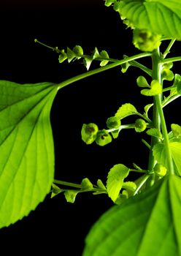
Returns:
[[[180,0],[123,0],[118,12],[138,29],[181,39]]]

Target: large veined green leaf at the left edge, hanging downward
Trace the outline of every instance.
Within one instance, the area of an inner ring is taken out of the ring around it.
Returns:
[[[0,80],[0,227],[28,215],[53,182],[52,83]]]

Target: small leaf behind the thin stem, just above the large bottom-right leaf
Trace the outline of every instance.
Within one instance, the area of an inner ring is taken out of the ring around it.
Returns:
[[[181,175],[181,143],[180,142],[170,142],[169,143],[172,159],[174,161],[174,166],[177,170],[177,173]],[[168,169],[166,151],[163,143],[157,143],[153,146],[153,156],[158,164],[164,165]]]

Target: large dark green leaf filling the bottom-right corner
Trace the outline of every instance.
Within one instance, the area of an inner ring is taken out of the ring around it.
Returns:
[[[180,187],[180,177],[167,176],[111,208],[90,230],[83,256],[181,255]]]

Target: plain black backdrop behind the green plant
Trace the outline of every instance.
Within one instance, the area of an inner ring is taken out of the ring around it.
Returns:
[[[88,54],[96,46],[115,59],[139,53],[131,43],[131,30],[101,0],[1,1],[0,23],[1,80],[60,83],[86,72],[81,61],[59,64],[58,54],[35,44],[35,38],[60,49],[82,45]],[[178,44],[175,49],[180,50]],[[150,67],[150,60],[146,64]],[[179,72],[178,67],[175,71]],[[135,68],[121,74],[117,67],[58,92],[51,111],[55,178],[80,183],[88,177],[96,183],[98,178],[105,182],[109,168],[118,163],[131,167],[136,162],[146,168],[148,151],[140,143],[141,135],[133,131],[123,131],[118,140],[103,148],[86,146],[80,138],[83,123],[96,122],[104,128],[107,117],[123,103],[143,110],[151,99],[140,96],[135,85],[138,74],[142,72]],[[180,108],[178,102],[176,106]],[[177,121],[175,109],[174,105],[166,112],[169,123]],[[19,255],[81,255],[91,225],[111,206],[105,195],[81,194],[74,204],[66,203],[63,195],[51,200],[48,195],[28,217],[0,230],[1,250],[6,249],[7,255],[12,250]]]

